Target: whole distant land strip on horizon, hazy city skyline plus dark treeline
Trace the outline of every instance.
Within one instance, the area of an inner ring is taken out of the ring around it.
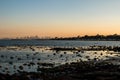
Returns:
[[[94,36],[76,36],[76,37],[45,37],[39,38],[38,36],[35,37],[22,37],[22,38],[5,38],[3,40],[83,40],[83,41],[120,41],[120,35],[113,34],[113,35],[94,35]]]

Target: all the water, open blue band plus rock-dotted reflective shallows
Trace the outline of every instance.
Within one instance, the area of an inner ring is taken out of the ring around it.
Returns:
[[[80,47],[93,45],[120,46],[120,42],[78,40],[0,40],[0,46],[5,46],[0,47],[0,73],[14,74],[18,73],[18,70],[37,72],[39,67],[49,67],[38,65],[38,63],[52,63],[54,66],[59,66],[65,63],[81,60],[88,61],[96,59],[96,61],[100,61],[109,58],[119,58],[120,56],[120,54],[113,51],[56,52],[54,50],[46,49],[48,47]],[[32,47],[34,51],[30,47]],[[34,65],[30,65],[30,63],[34,63]],[[120,62],[117,64],[120,64]],[[20,66],[23,67],[22,70],[20,69]]]

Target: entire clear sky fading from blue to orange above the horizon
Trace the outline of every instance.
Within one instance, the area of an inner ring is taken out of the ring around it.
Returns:
[[[120,34],[120,0],[0,0],[0,38]]]

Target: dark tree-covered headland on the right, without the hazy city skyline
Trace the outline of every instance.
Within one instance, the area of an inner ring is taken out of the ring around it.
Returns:
[[[52,38],[52,40],[86,40],[86,41],[120,41],[120,35],[114,34],[114,35],[95,35],[95,36],[77,36],[77,37],[66,37],[66,38]]]

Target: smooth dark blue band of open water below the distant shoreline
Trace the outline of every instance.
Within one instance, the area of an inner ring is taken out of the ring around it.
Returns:
[[[0,46],[120,46],[120,41],[78,41],[78,40],[0,40]]]

